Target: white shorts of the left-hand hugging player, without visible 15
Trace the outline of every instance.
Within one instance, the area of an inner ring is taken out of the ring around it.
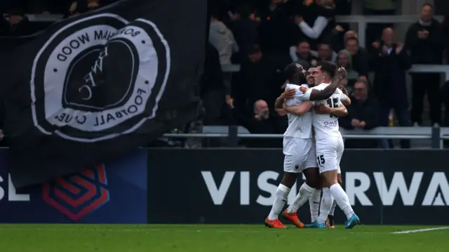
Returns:
[[[283,171],[301,173],[307,168],[318,167],[314,141],[302,138],[283,138]]]

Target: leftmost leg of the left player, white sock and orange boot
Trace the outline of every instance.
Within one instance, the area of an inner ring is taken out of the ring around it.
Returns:
[[[283,152],[285,154],[283,161],[283,178],[276,190],[276,197],[274,197],[272,210],[269,212],[268,217],[265,218],[265,225],[267,227],[286,228],[286,226],[279,220],[279,214],[281,213],[283,206],[287,203],[287,197],[291,188],[296,183],[296,170],[299,169],[299,166],[295,164],[295,138],[284,138]]]

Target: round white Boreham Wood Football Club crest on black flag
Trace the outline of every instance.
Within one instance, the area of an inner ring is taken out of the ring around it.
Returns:
[[[80,18],[34,59],[34,125],[78,142],[133,133],[155,117],[169,72],[170,48],[154,23],[109,13]]]

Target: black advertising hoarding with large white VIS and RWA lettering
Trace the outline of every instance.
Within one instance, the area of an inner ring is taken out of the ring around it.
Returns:
[[[343,187],[362,223],[449,225],[448,154],[345,151]],[[283,172],[281,150],[149,149],[148,157],[149,223],[263,223]],[[308,222],[308,204],[298,214]],[[335,215],[344,221],[339,208]]]

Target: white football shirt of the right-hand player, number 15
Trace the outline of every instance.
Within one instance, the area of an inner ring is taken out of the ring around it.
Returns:
[[[329,84],[319,84],[311,89],[323,90],[329,86]],[[316,105],[326,105],[328,107],[339,107],[342,102],[346,99],[346,95],[337,88],[335,93],[328,98],[328,100],[320,100],[316,101]],[[316,114],[316,112],[312,113],[312,125],[315,130],[315,139],[321,140],[323,138],[328,137],[342,137],[340,133],[340,127],[338,126],[338,117],[335,117],[331,114]]]

